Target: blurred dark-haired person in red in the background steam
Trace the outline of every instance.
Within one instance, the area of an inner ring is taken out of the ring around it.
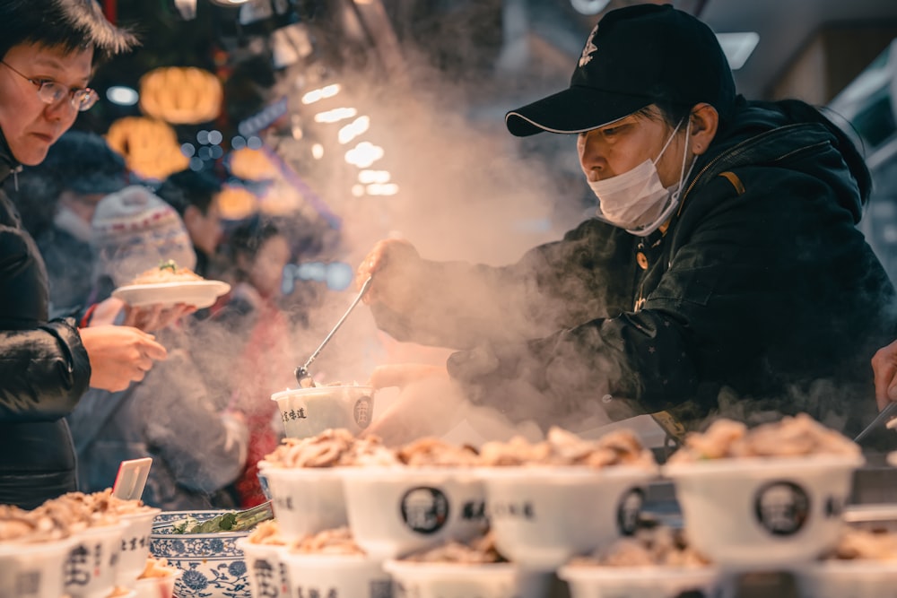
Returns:
[[[257,462],[270,453],[283,437],[283,423],[271,394],[294,385],[296,367],[292,325],[280,307],[283,268],[290,263],[287,238],[277,224],[254,216],[240,222],[225,241],[233,288],[230,295],[213,310],[197,333],[206,339],[201,368],[207,380],[226,380],[218,387],[219,396],[227,397],[230,408],[242,413],[249,429],[248,458],[245,470],[234,484],[242,508],[265,502],[258,481]],[[209,334],[227,334],[230,340],[214,341]],[[239,347],[222,353],[223,347]],[[226,376],[222,375],[227,372]]]

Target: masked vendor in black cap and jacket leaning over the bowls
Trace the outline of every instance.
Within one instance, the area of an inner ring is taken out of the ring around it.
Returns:
[[[718,414],[873,417],[894,290],[856,228],[868,171],[816,109],[736,95],[706,25],[640,4],[506,124],[577,135],[595,218],[504,267],[388,240],[359,268],[383,330],[461,350],[448,374],[471,401],[571,429],[647,412],[674,436]]]

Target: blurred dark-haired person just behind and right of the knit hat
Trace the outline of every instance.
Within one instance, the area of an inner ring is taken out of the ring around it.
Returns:
[[[190,169],[171,174],[156,190],[184,221],[196,250],[196,273],[204,278],[208,278],[209,264],[222,241],[221,192],[221,181],[213,174]]]

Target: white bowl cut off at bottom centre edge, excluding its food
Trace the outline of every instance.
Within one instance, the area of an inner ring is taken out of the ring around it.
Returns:
[[[521,579],[511,563],[429,563],[388,560],[394,598],[518,598]]]

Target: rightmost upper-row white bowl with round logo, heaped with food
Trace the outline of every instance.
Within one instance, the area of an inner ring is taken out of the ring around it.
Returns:
[[[695,549],[727,568],[783,568],[838,542],[859,446],[809,416],[718,420],[665,465]]]

